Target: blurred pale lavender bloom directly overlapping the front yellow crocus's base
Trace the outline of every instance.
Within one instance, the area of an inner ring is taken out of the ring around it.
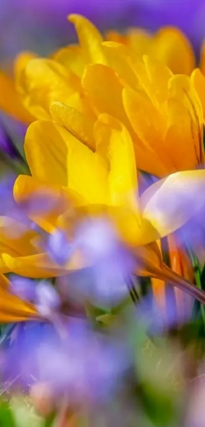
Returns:
[[[69,298],[75,295],[78,300],[89,298],[97,305],[111,306],[126,297],[133,260],[111,223],[103,218],[83,222],[72,248],[81,251],[89,267],[67,277]]]

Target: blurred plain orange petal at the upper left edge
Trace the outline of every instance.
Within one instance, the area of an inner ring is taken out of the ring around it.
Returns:
[[[25,124],[33,122],[33,117],[21,103],[13,80],[2,71],[0,71],[0,87],[0,108],[3,112]]]

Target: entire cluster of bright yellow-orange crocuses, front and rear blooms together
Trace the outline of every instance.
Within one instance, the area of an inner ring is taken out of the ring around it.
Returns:
[[[50,58],[23,52],[15,81],[0,75],[0,106],[31,123],[24,149],[32,176],[18,177],[15,200],[49,194],[52,211],[30,217],[47,233],[65,229],[70,239],[81,218],[107,216],[136,259],[134,273],[168,280],[204,301],[163,264],[156,243],[203,205],[205,77],[194,70],[192,49],[173,29],[154,37],[112,33],[103,41],[84,17],[69,20],[79,44]],[[201,64],[203,71],[203,56]],[[159,178],[141,195],[140,170]],[[78,251],[63,268],[55,265],[39,239],[27,230],[8,238],[2,221],[0,271],[39,278],[87,267]]]

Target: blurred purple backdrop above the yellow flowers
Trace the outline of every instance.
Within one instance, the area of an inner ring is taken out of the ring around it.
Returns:
[[[73,12],[90,18],[102,32],[134,25],[155,31],[162,25],[176,25],[197,53],[205,38],[205,0],[1,0],[1,67],[10,69],[22,49],[47,54],[74,41],[66,19]]]

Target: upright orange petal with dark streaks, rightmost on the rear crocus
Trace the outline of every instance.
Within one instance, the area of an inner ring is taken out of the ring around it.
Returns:
[[[178,141],[177,148],[183,150],[181,155],[177,155],[177,148],[175,148],[175,163],[180,161],[179,169],[200,166],[204,159],[203,111],[200,99],[188,76],[177,75],[170,79],[168,113],[170,129],[167,138],[168,143],[171,144],[170,154],[173,154],[173,145],[176,145],[174,140]]]

